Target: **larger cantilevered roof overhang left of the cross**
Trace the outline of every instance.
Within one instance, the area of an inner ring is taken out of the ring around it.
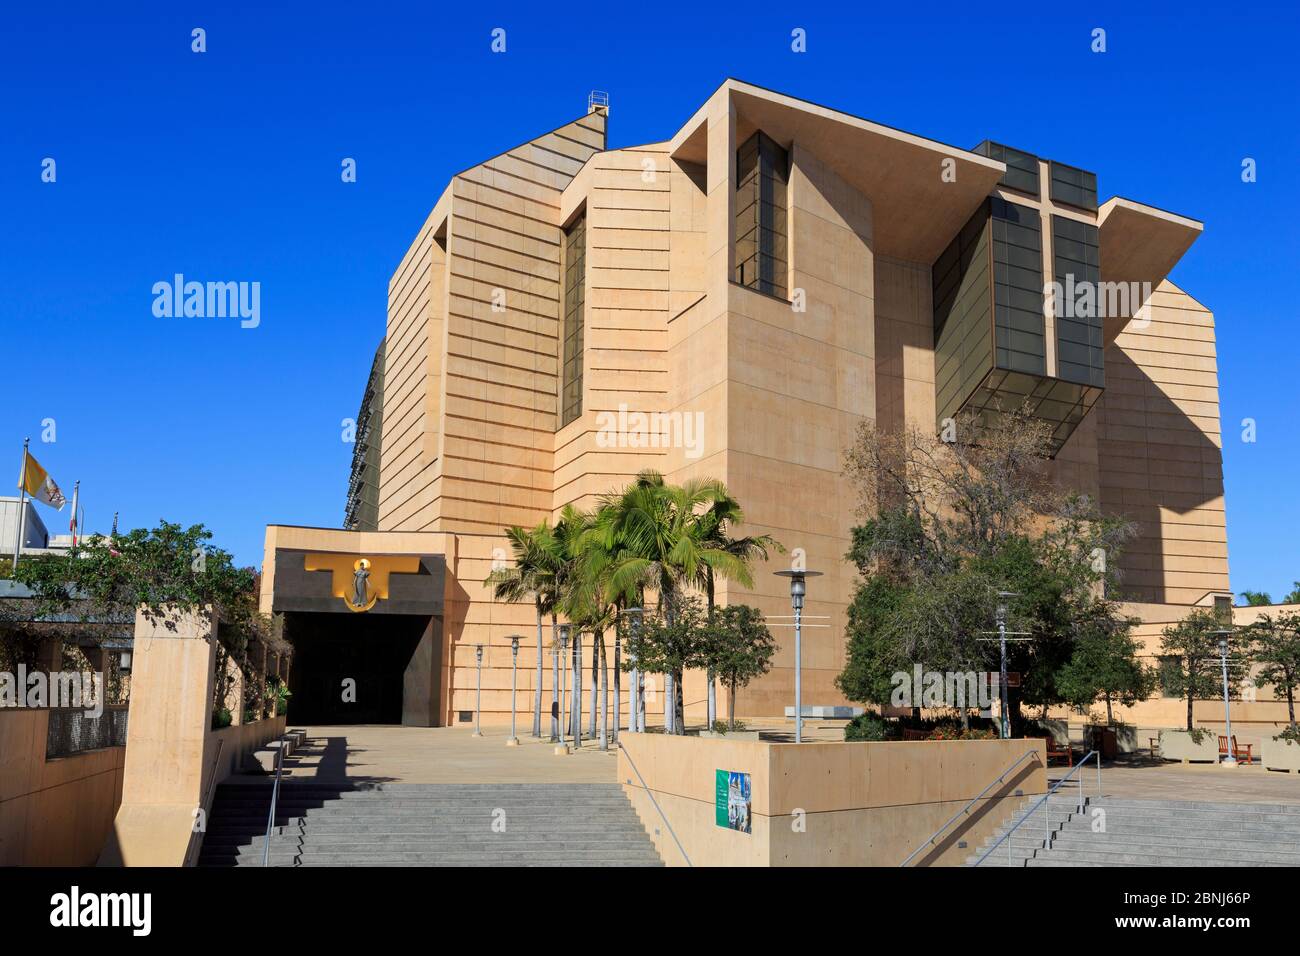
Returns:
[[[871,200],[876,255],[933,263],[1006,172],[968,150],[738,79],[725,81],[673,137],[676,159],[706,160],[719,96],[736,109],[737,142],[762,129],[783,146],[798,143]]]

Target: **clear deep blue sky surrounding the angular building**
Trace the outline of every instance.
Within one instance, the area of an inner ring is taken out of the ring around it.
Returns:
[[[1294,9],[105,7],[0,17],[0,473],[31,436],[66,492],[82,480],[94,529],[114,510],[124,527],[203,522],[260,563],[268,522],[337,525],[339,421],[447,178],[582,113],[592,88],[610,92],[611,146],[667,138],[734,75],[958,146],[1020,146],[1097,170],[1102,198],[1202,220],[1173,278],[1217,316],[1232,584],[1277,597],[1300,578]],[[1093,27],[1108,52],[1089,51]],[[151,289],[177,272],[261,282],[260,328],[156,319]],[[46,418],[57,441],[42,445]]]

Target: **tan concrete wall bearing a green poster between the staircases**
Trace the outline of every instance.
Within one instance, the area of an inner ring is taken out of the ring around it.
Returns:
[[[946,866],[961,864],[1026,796],[1046,792],[1041,740],[771,744],[662,734],[620,734],[620,740],[619,783],[670,866],[685,860],[651,795],[696,866],[897,866],[1034,750],[913,861]],[[718,826],[718,770],[750,774],[753,832]]]

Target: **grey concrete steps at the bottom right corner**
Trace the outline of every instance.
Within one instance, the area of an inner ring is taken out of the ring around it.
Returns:
[[[1300,866],[1300,805],[1104,796],[1086,799],[1080,813],[1078,796],[1062,793],[1032,809],[1036,800],[1026,800],[966,865],[1023,818],[1009,839],[1010,862],[1004,842],[978,865]]]

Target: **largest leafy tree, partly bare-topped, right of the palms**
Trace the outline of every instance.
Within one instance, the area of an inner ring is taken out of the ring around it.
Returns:
[[[1049,480],[1050,427],[1027,408],[963,416],[957,437],[864,423],[845,455],[863,518],[849,553],[862,584],[840,688],[883,704],[887,675],[914,663],[996,670],[997,593],[1014,592],[1008,627],[1026,637],[1008,654],[1022,674],[1008,695],[1017,728],[1022,702],[1065,698],[1057,675],[1074,644],[1115,617],[1105,596],[1132,525]]]

